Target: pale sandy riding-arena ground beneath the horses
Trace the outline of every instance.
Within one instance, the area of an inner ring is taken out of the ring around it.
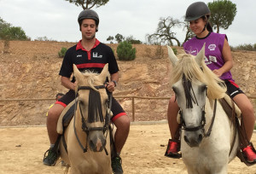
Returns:
[[[54,167],[42,163],[49,140],[45,126],[5,127],[0,129],[0,173],[36,174],[63,173],[58,163]],[[169,138],[168,125],[131,125],[131,132],[122,151],[123,168],[128,174],[187,173],[182,159],[164,156]],[[256,145],[256,133],[252,142]],[[256,174],[256,165],[247,166],[240,159],[229,165],[229,174]]]

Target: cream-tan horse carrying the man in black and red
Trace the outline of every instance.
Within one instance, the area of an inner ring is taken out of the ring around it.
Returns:
[[[61,159],[71,165],[73,174],[112,173],[110,139],[106,129],[109,123],[109,118],[106,119],[109,113],[108,95],[103,85],[109,77],[108,64],[101,74],[80,73],[76,66],[73,66],[73,70],[78,82],[76,111],[64,131],[67,150],[63,140],[60,142]],[[61,119],[57,131],[63,133]]]

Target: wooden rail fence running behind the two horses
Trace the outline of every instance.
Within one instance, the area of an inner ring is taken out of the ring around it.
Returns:
[[[247,96],[249,99],[254,100],[256,96]],[[114,98],[126,98],[131,99],[131,110],[132,110],[132,121],[135,120],[135,99],[145,99],[145,100],[169,100],[171,97],[147,97],[147,96],[114,96]],[[20,102],[20,101],[54,101],[53,98],[38,98],[38,99],[0,99],[0,102]],[[256,100],[253,103],[253,107],[256,107]]]

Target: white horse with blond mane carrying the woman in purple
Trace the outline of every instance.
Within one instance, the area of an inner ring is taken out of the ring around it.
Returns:
[[[177,121],[182,124],[183,162],[189,174],[227,173],[239,138],[218,102],[226,88],[204,62],[205,45],[196,56],[184,54],[177,59],[170,47],[168,55],[173,66],[172,89],[180,107]]]

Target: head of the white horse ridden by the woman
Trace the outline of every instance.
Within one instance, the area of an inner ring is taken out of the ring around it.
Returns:
[[[177,119],[183,126],[183,138],[190,147],[198,147],[204,136],[206,123],[207,84],[202,78],[204,75],[201,70],[205,45],[195,57],[182,55],[182,58],[177,59],[170,47],[168,47],[168,55],[172,61],[172,72],[175,74],[172,76],[172,90],[180,107]]]

